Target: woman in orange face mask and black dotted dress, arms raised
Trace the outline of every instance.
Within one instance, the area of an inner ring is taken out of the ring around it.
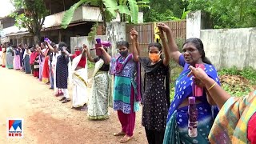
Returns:
[[[158,42],[150,43],[148,46],[149,58],[140,57],[138,32],[134,29],[130,31],[134,48],[134,61],[139,61],[145,70],[145,91],[142,94],[142,126],[145,127],[146,138],[150,144],[162,143],[166,129],[168,106],[170,106],[170,50],[164,38],[163,30],[160,29],[159,31],[165,58],[161,58],[162,46]]]

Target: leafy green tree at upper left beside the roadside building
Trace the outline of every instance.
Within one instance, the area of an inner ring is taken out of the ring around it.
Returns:
[[[22,10],[22,14],[14,12],[11,14],[16,20],[16,26],[27,28],[30,34],[34,36],[34,43],[38,43],[41,38],[45,17],[48,14],[43,0],[13,0],[16,11]]]

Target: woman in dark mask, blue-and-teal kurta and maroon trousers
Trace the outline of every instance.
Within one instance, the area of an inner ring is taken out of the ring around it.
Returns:
[[[106,50],[101,48],[106,62],[111,62],[110,74],[114,74],[114,110],[118,111],[118,118],[122,130],[114,136],[124,136],[120,142],[128,142],[133,137],[135,112],[139,109],[140,70],[138,62],[134,62],[133,54],[129,54],[129,43],[117,43],[119,55],[111,58]],[[130,49],[132,52],[133,49]]]

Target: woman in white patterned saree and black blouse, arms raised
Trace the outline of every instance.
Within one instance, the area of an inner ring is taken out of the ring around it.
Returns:
[[[108,110],[110,103],[112,103],[109,101],[112,99],[110,98],[112,95],[110,95],[110,76],[108,73],[110,70],[110,62],[106,61],[106,53],[103,53],[96,58],[92,58],[90,49],[85,45],[83,46],[83,49],[86,51],[88,60],[95,63],[93,74],[94,82],[88,102],[88,118],[92,120],[104,120],[110,118]],[[106,50],[106,48],[103,49]]]

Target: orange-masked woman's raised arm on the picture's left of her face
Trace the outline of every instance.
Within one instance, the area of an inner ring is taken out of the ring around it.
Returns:
[[[133,54],[134,62],[138,62],[140,50],[138,48],[138,32],[136,30],[134,30],[134,29],[130,30],[130,39],[132,42],[131,52]]]

